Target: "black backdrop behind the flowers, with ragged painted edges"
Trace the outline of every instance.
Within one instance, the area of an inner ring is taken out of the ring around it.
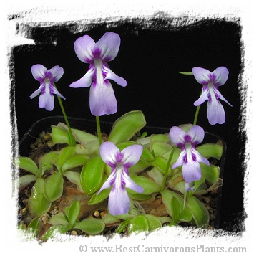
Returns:
[[[95,42],[105,32],[116,32],[121,37],[119,54],[109,62],[109,67],[124,77],[128,85],[121,87],[112,81],[118,110],[114,115],[102,116],[101,120],[114,121],[130,110],[142,110],[150,126],[170,128],[192,123],[195,115],[193,103],[199,98],[202,85],[192,75],[178,72],[190,72],[192,67],[213,71],[225,66],[230,73],[228,81],[219,90],[233,108],[222,102],[225,124],[210,125],[207,103],[203,103],[197,125],[218,134],[227,143],[220,227],[228,231],[243,231],[245,134],[240,127],[245,125],[242,108],[245,103],[241,100],[245,92],[240,79],[243,72],[240,20],[203,19],[187,24],[187,17],[170,18],[159,14],[149,20],[119,19],[118,22],[82,24],[70,22],[46,27],[19,24],[25,36],[36,43],[14,47],[11,52],[10,70],[14,84],[11,88],[11,115],[13,117],[16,113],[16,123],[14,118],[12,121],[17,125],[19,139],[36,120],[62,115],[57,99],[51,112],[39,108],[39,97],[30,100],[29,95],[39,87],[39,82],[31,75],[31,66],[35,64],[47,69],[54,65],[63,67],[64,75],[56,85],[67,98],[63,100],[67,115],[94,119],[89,110],[89,88],[69,87],[89,67],[79,61],[73,47],[75,40],[84,34],[89,34]]]

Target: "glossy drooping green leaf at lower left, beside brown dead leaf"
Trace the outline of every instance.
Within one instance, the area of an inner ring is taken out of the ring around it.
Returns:
[[[40,217],[42,214],[49,211],[51,202],[44,196],[44,179],[38,178],[31,189],[29,197],[29,211],[33,217]]]

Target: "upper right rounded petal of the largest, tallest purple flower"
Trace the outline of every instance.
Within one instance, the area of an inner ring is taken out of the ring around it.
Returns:
[[[101,39],[94,45],[93,53],[99,54],[97,56],[102,62],[109,62],[114,60],[119,51],[121,39],[118,34],[113,32],[105,33]]]

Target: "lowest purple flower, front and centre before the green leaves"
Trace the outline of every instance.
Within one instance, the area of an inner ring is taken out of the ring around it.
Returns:
[[[109,194],[109,212],[112,215],[129,212],[130,200],[125,187],[137,193],[142,193],[144,190],[142,186],[138,186],[130,179],[128,171],[130,166],[134,166],[140,160],[142,151],[141,145],[128,146],[119,151],[119,148],[109,141],[100,146],[102,160],[112,168],[112,172],[98,194],[113,185]]]

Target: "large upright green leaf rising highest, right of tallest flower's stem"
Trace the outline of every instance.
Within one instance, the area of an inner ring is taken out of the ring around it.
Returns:
[[[114,144],[129,141],[137,131],[146,125],[145,116],[140,110],[131,111],[118,118],[109,134],[109,141]]]

